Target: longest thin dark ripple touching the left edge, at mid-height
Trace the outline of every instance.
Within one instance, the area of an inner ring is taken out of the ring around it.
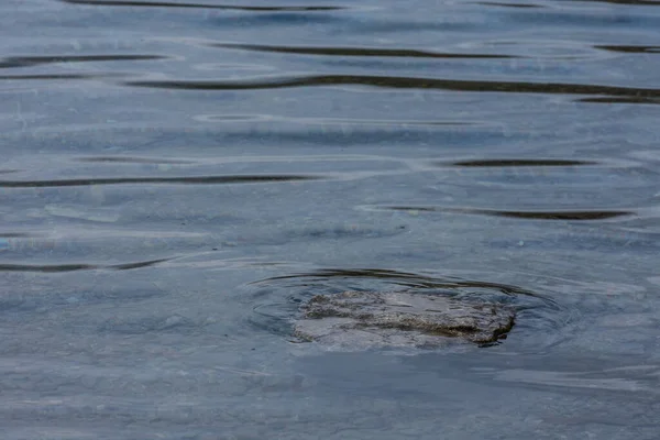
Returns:
[[[199,176],[199,177],[117,177],[117,178],[81,178],[66,180],[0,180],[0,188],[43,188],[89,185],[122,184],[258,184],[274,182],[317,180],[320,176],[301,175],[243,175],[243,176]]]

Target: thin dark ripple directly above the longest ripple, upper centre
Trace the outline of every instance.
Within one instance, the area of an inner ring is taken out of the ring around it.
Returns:
[[[253,52],[274,52],[299,55],[330,55],[330,56],[389,56],[407,58],[521,58],[517,55],[497,54],[455,54],[405,48],[375,48],[375,47],[302,47],[302,46],[267,46],[262,44],[209,44],[211,47],[237,48]]]

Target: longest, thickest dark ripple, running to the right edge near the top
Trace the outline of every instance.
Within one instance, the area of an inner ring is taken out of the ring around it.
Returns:
[[[606,95],[622,97],[660,98],[660,89],[619,86],[592,86],[561,82],[483,81],[435,79],[416,77],[387,77],[367,75],[316,75],[306,77],[277,77],[253,81],[197,81],[197,80],[138,80],[128,86],[182,90],[260,90],[293,87],[359,85],[395,89],[436,89],[451,91],[486,91],[517,94]]]

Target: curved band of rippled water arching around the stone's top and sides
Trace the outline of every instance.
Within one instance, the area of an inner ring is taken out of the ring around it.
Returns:
[[[572,321],[564,306],[532,290],[492,282],[455,276],[433,276],[383,268],[327,268],[274,276],[250,283],[254,314],[251,326],[284,338],[292,334],[292,321],[300,306],[316,295],[345,290],[407,292],[441,295],[465,302],[506,305],[516,310],[516,332],[512,337],[535,339],[536,349],[558,341],[558,331]],[[551,330],[549,332],[549,330]],[[518,334],[518,333],[525,334]],[[543,342],[539,343],[539,333]],[[530,334],[527,334],[530,333]]]

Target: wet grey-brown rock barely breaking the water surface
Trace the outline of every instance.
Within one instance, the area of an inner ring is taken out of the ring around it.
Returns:
[[[488,344],[506,338],[515,310],[414,292],[317,295],[300,308],[294,337],[341,349]]]

